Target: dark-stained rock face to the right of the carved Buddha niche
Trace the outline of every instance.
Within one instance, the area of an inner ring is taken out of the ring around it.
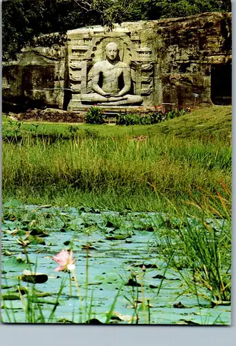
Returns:
[[[192,93],[199,94],[199,102],[230,102],[230,14],[170,19],[156,33],[161,37],[158,61],[163,102],[192,104]]]

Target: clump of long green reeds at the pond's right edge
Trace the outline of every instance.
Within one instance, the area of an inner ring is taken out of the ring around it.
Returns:
[[[165,241],[159,251],[166,259],[174,252],[170,265],[180,271],[192,293],[203,294],[201,287],[205,287],[210,294],[204,297],[213,304],[222,304],[231,299],[230,191],[219,181],[217,195],[208,190],[201,193],[202,203],[194,198],[189,202],[200,210],[201,217],[185,217],[179,224],[169,220],[167,228],[160,230],[159,236]]]

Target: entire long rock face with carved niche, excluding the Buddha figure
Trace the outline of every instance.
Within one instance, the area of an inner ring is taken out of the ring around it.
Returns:
[[[107,44],[114,42],[122,66],[130,69],[127,93],[142,100],[141,106],[231,102],[230,13],[123,23],[112,32],[102,27],[80,28],[70,30],[67,37],[67,46],[57,51],[28,48],[18,62],[3,66],[3,100],[86,109],[82,95],[87,95],[86,100],[94,98],[93,66],[105,61]],[[120,90],[123,86],[120,78]],[[130,106],[107,107],[125,111]]]

